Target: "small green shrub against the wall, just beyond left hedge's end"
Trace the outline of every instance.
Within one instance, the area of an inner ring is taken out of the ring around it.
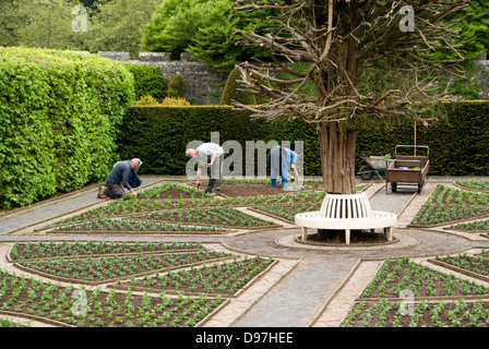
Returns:
[[[127,63],[124,67],[134,76],[136,100],[144,96],[152,96],[158,101],[162,101],[166,97],[166,79],[156,67],[148,64],[135,65],[131,63]]]

